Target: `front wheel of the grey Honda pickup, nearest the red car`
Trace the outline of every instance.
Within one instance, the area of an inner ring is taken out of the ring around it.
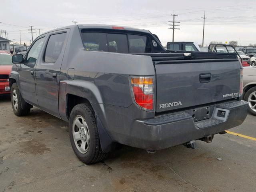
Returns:
[[[16,101],[13,100],[13,94],[16,93]],[[21,107],[21,95],[18,85],[16,83],[12,84],[11,87],[11,102],[12,102],[12,110],[16,116],[26,116],[30,112],[30,108],[22,109]],[[17,103],[17,106],[14,106],[14,102]]]

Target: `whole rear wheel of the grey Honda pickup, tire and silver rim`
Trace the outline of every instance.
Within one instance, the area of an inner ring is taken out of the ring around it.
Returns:
[[[69,119],[70,142],[74,153],[85,164],[102,161],[107,154],[102,152],[96,119],[91,106],[78,104]]]

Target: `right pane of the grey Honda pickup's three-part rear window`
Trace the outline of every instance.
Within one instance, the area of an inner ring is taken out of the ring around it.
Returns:
[[[151,44],[146,36],[128,34],[130,53],[150,53]]]

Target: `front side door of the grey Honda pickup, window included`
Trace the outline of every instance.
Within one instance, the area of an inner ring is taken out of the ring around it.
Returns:
[[[44,41],[45,37],[42,37],[33,42],[24,58],[24,62],[20,64],[18,69],[21,95],[26,102],[34,106],[38,106],[36,99],[35,67],[40,57]]]

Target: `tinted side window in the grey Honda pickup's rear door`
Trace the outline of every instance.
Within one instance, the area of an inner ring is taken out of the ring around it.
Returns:
[[[44,62],[56,62],[56,60],[60,56],[60,52],[62,50],[65,38],[66,33],[54,34],[50,36],[44,54]]]

